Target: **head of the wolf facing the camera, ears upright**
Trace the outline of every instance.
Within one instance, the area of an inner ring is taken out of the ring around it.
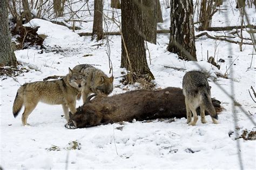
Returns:
[[[76,89],[82,90],[82,87],[85,85],[85,76],[82,73],[83,69],[80,71],[72,71],[69,68],[69,84]]]

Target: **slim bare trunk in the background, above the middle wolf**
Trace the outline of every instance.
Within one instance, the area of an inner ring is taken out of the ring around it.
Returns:
[[[103,0],[94,1],[94,18],[92,28],[92,39],[100,40],[103,38]]]

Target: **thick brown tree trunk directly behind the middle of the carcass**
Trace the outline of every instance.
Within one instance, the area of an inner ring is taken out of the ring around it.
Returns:
[[[142,10],[138,0],[122,0],[122,57],[121,67],[154,79],[146,60],[142,33]]]

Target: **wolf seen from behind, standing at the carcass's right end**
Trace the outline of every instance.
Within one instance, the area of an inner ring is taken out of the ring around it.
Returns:
[[[187,112],[187,123],[196,125],[198,116],[196,108],[200,106],[201,123],[206,123],[205,110],[209,112],[214,124],[217,124],[218,115],[211,101],[211,88],[204,73],[200,71],[190,71],[183,77],[183,94],[185,96],[185,105]],[[191,121],[191,111],[193,121]]]

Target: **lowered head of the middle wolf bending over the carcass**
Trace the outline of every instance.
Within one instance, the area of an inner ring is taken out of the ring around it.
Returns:
[[[105,74],[96,72],[95,80],[91,84],[91,90],[97,94],[110,94],[113,91],[113,77],[107,77]]]

